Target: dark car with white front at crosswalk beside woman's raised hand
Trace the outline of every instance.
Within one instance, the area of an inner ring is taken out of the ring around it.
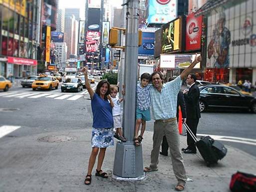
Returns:
[[[80,78],[67,78],[64,83],[61,85],[61,92],[64,91],[82,91],[83,84]]]

